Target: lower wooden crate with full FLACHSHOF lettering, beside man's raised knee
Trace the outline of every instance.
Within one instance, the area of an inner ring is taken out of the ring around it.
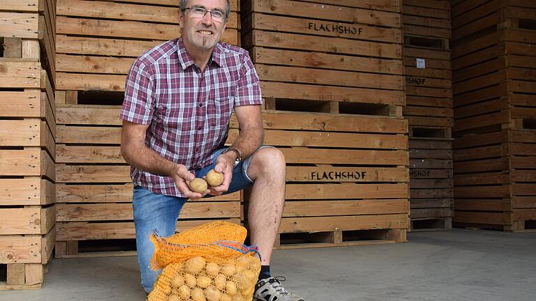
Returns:
[[[276,247],[405,241],[405,120],[280,111],[265,111],[263,119],[265,144],[279,148],[287,162]],[[237,123],[231,128],[236,130]]]

